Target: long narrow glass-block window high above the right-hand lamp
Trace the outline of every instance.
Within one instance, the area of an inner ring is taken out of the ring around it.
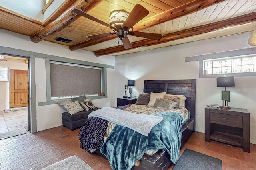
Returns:
[[[236,74],[256,72],[256,55],[203,60],[203,74]]]

